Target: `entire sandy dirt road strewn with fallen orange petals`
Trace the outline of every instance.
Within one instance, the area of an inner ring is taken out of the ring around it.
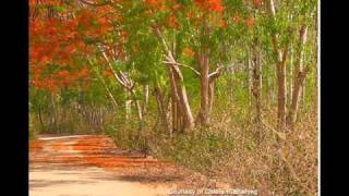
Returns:
[[[29,144],[29,196],[168,195],[185,173],[118,149],[106,136],[39,137]]]

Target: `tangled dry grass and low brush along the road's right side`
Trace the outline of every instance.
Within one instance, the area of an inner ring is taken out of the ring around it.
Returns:
[[[131,127],[110,133],[123,147],[145,146],[156,157],[234,188],[257,189],[260,195],[317,194],[316,112],[303,114],[284,140],[270,130],[276,124],[275,110],[264,111],[266,127],[261,130],[263,139],[257,144],[253,113],[239,107],[230,111],[213,113],[210,128],[196,128],[173,138],[163,130],[151,128],[144,130],[143,140]]]

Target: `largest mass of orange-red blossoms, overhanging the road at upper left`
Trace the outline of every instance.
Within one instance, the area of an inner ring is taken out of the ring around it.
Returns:
[[[32,10],[37,2],[43,5],[62,5],[58,0],[31,0]],[[31,84],[37,89],[57,93],[62,87],[74,86],[79,84],[76,82],[87,79],[87,83],[83,83],[83,89],[88,87],[88,69],[85,65],[74,65],[74,61],[77,56],[89,54],[96,49],[84,42],[85,37],[104,37],[111,29],[109,19],[113,16],[110,15],[112,9],[111,7],[98,7],[94,9],[94,12],[88,9],[80,10],[74,13],[74,19],[47,19],[44,14],[31,20]],[[122,37],[125,38],[127,34],[123,33]],[[62,66],[59,69],[61,71],[49,71],[48,64]]]

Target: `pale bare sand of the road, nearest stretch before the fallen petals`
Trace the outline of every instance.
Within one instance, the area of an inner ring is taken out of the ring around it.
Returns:
[[[33,170],[29,196],[153,196],[166,195],[169,185],[128,182],[100,168]]]

